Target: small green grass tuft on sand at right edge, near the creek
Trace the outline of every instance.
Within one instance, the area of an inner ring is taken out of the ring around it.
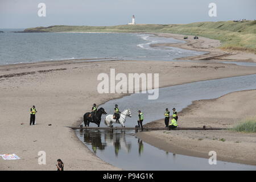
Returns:
[[[232,128],[233,131],[256,133],[256,117],[247,118],[245,121],[238,123],[238,125]]]

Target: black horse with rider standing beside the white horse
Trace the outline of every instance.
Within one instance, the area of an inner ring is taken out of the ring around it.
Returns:
[[[91,117],[89,117],[90,112],[84,114],[84,126],[89,126],[90,122],[95,123],[100,127],[101,123],[101,115],[102,114],[107,114],[105,109],[102,107],[97,110],[96,113],[93,113]]]

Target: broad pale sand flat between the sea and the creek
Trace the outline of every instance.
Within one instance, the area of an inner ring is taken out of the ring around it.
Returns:
[[[141,64],[142,67],[138,68],[137,64]],[[0,152],[5,154],[11,151],[22,158],[18,165],[15,162],[2,162],[0,169],[54,170],[57,158],[64,160],[67,170],[119,169],[99,159],[82,144],[73,130],[65,126],[79,125],[77,120],[85,111],[91,109],[94,102],[99,105],[127,95],[98,94],[95,90],[99,73],[108,73],[110,68],[115,68],[118,72],[127,74],[129,71],[124,65],[135,73],[145,72],[143,68],[148,68],[149,73],[160,73],[161,88],[215,78],[256,74],[255,69],[250,67],[215,62],[61,60],[0,65],[3,100],[1,109],[5,111],[0,130],[6,137],[6,140],[1,143]],[[185,75],[182,74],[184,72]],[[10,101],[15,101],[15,105]],[[27,126],[27,113],[31,105],[39,107],[39,113],[36,116],[39,121],[35,127]],[[57,110],[53,111],[52,108]],[[11,112],[13,109],[15,114]],[[40,113],[47,113],[47,115]],[[51,118],[55,118],[54,123],[48,126],[53,122]],[[22,122],[26,124],[20,125]],[[17,141],[12,139],[13,131],[21,136]],[[47,132],[47,136],[42,134],[42,131]],[[29,150],[26,147],[27,144],[31,145]],[[59,148],[63,153],[58,155],[56,151]],[[70,148],[72,152],[69,151]],[[46,150],[49,156],[46,166],[37,164],[39,150]]]

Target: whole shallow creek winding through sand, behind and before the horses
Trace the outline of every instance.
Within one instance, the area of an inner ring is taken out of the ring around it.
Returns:
[[[163,118],[166,107],[176,107],[177,111],[195,100],[218,98],[230,92],[256,89],[256,75],[198,81],[189,84],[169,86],[159,89],[158,100],[148,100],[147,94],[132,94],[101,105],[108,113],[113,113],[114,104],[119,109],[130,108],[133,117],[127,118],[125,125],[137,125],[137,110],[144,113],[144,123]],[[101,126],[105,126],[102,117]],[[94,126],[92,123],[90,126]],[[114,124],[114,126],[119,126]],[[208,159],[172,154],[160,150],[138,139],[134,130],[76,130],[77,137],[99,158],[126,170],[255,170],[256,166],[217,161],[209,165]]]

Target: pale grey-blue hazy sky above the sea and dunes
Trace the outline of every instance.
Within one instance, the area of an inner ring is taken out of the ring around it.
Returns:
[[[38,16],[45,3],[46,16]],[[217,16],[210,17],[209,3]],[[256,0],[0,0],[0,28],[86,25],[176,24],[256,19]]]

